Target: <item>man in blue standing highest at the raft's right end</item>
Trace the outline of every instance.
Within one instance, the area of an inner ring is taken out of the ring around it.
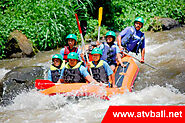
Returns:
[[[140,29],[144,25],[144,19],[142,17],[137,17],[134,20],[134,26],[127,27],[117,37],[118,46],[121,51],[135,52],[136,55],[141,49],[141,59],[140,62],[144,63],[145,56],[145,36]]]

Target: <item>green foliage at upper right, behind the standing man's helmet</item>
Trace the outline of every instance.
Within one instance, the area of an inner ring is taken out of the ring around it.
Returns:
[[[112,0],[109,8],[112,10],[112,21],[106,25],[114,25],[115,30],[121,31],[133,25],[136,17],[143,17],[146,31],[155,17],[170,17],[184,24],[184,0]]]

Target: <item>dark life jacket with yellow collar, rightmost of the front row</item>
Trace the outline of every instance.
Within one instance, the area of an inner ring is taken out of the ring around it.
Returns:
[[[103,67],[103,60],[100,60],[97,66],[90,62],[93,78],[98,82],[108,83],[108,76]]]

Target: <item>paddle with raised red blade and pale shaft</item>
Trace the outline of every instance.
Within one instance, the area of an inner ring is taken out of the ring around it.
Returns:
[[[83,51],[85,51],[87,62],[89,62],[89,58],[88,58],[87,51],[86,51],[86,48],[85,48],[84,38],[83,38],[83,35],[82,35],[82,30],[81,30],[80,23],[79,23],[79,20],[78,20],[78,15],[75,14],[75,17],[76,17],[76,21],[77,21],[77,25],[78,25],[78,30],[80,32],[81,39],[82,39],[82,48],[84,49]],[[90,74],[92,76],[91,68],[89,69],[89,71],[90,71]]]

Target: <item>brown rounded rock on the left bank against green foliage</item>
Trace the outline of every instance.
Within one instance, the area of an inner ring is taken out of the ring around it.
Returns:
[[[7,56],[10,58],[32,57],[35,55],[35,49],[32,47],[30,40],[18,30],[10,33],[6,50]]]

